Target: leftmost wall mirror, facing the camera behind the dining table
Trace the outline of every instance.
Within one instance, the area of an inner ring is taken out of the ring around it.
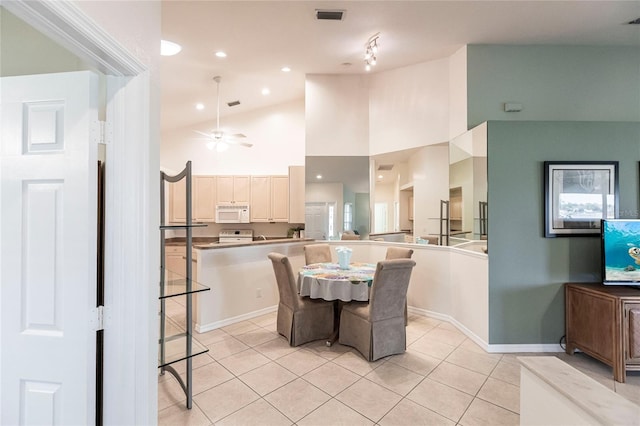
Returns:
[[[345,231],[353,231],[368,239],[368,156],[307,156],[305,192],[307,238],[340,239]]]

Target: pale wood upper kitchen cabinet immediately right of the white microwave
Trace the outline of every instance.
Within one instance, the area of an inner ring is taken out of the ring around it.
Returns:
[[[251,176],[251,222],[289,221],[289,176]]]

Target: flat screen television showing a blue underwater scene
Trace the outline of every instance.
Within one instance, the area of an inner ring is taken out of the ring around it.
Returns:
[[[602,281],[640,286],[640,219],[603,219]]]

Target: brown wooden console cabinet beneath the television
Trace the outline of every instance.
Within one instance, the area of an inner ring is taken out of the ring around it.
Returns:
[[[576,349],[613,367],[624,383],[640,370],[640,289],[590,283],[565,285],[566,352]]]

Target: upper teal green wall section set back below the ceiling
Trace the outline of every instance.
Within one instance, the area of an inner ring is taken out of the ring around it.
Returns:
[[[469,128],[490,120],[638,121],[640,48],[467,47]],[[505,102],[522,104],[505,112]]]

